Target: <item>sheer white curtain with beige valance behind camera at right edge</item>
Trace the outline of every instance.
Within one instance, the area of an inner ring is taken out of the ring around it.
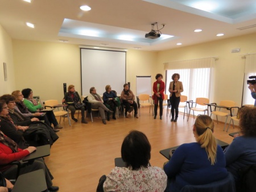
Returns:
[[[242,105],[254,105],[255,102],[255,99],[251,97],[251,91],[248,89],[247,85],[247,80],[249,80],[250,76],[256,76],[256,54],[247,55],[245,59]]]

